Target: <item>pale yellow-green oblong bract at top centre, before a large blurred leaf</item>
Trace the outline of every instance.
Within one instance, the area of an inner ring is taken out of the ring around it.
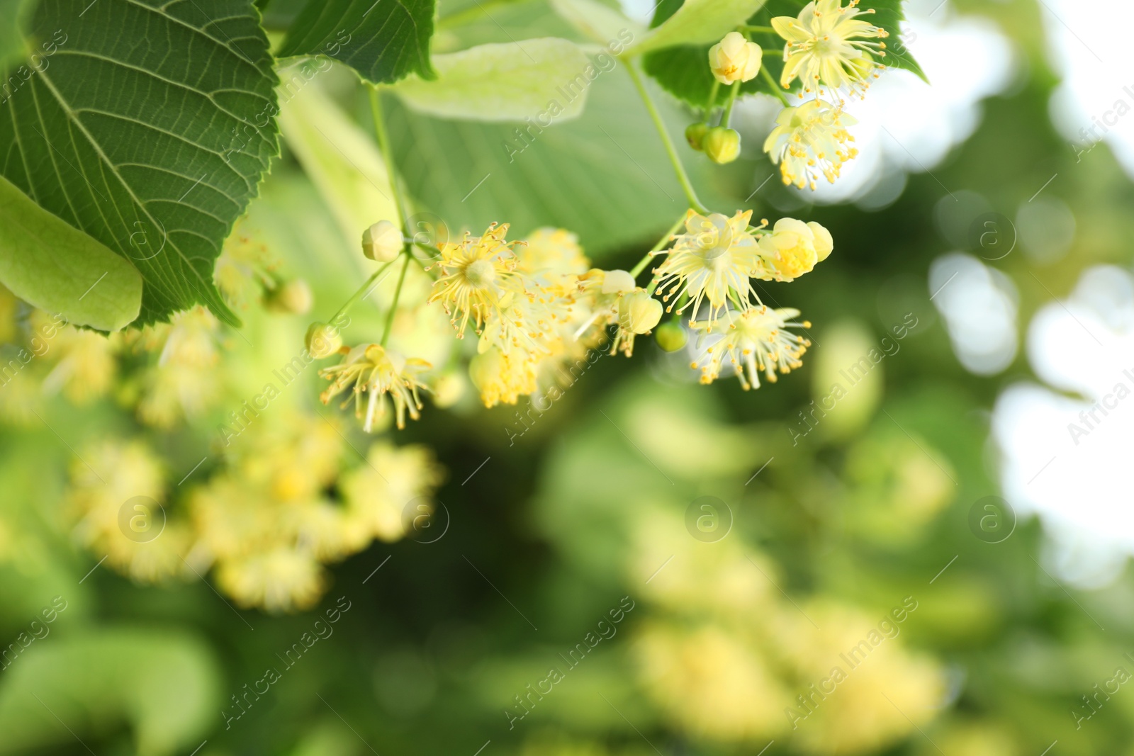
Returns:
[[[435,82],[408,78],[393,91],[418,112],[481,121],[535,118],[550,101],[566,101],[568,88],[581,94],[556,109],[553,118],[577,118],[599,71],[578,45],[556,37],[482,44],[434,56],[433,63]]]

